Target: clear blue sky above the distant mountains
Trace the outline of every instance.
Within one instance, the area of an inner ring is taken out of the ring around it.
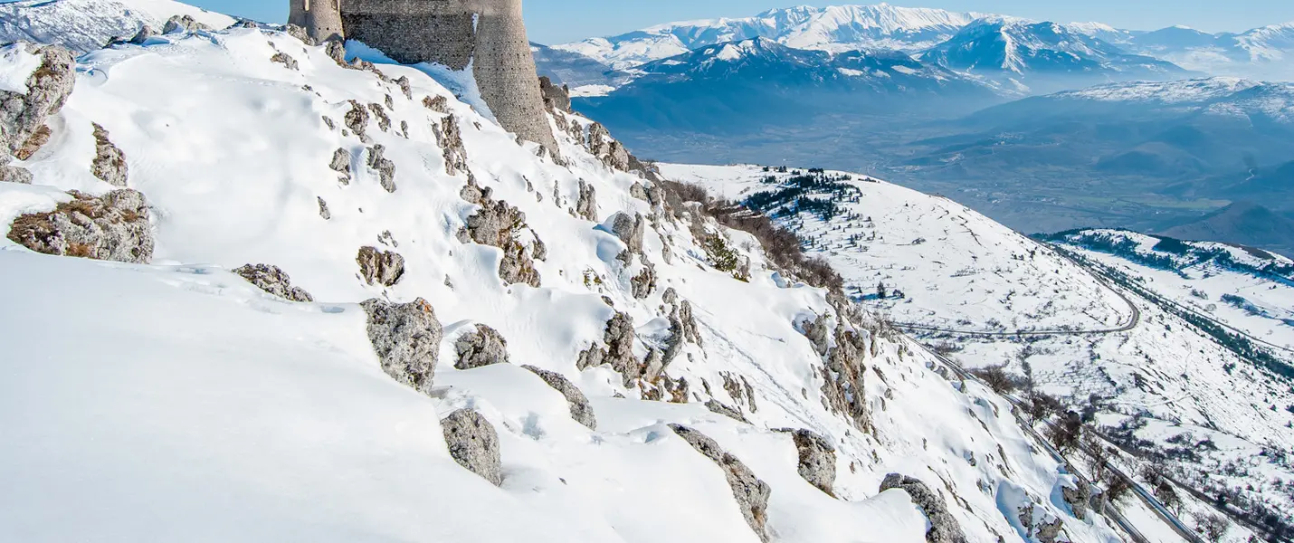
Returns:
[[[287,18],[286,0],[188,0],[225,13],[260,21]],[[656,23],[745,17],[804,0],[525,0],[531,39],[540,43],[572,41],[626,32]],[[810,5],[846,4],[846,1]],[[857,1],[866,3],[866,1]],[[1185,25],[1206,31],[1244,31],[1294,21],[1294,0],[919,0],[892,4],[987,12],[1047,21],[1100,21],[1121,28],[1162,28]]]

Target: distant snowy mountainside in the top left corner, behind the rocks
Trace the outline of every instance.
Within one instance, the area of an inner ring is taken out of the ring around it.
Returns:
[[[234,23],[229,16],[173,0],[18,0],[0,4],[0,43],[50,43],[88,53],[113,37],[133,36],[144,25],[162,31],[175,16],[212,28]]]

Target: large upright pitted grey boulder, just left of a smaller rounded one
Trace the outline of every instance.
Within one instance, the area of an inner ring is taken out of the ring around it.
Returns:
[[[382,371],[418,392],[431,390],[444,330],[427,300],[391,304],[373,299],[360,304],[369,315],[369,341]]]

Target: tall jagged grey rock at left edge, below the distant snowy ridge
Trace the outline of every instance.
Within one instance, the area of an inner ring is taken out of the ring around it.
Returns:
[[[67,103],[67,96],[76,84],[76,58],[58,45],[26,47],[32,54],[41,57],[40,67],[27,76],[27,93],[0,90],[0,144],[9,154],[31,156],[40,147],[38,132],[48,131],[45,120],[57,114]],[[32,140],[35,137],[35,140]],[[48,133],[44,136],[48,140]]]

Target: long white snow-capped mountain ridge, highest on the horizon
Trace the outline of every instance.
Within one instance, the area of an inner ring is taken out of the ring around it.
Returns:
[[[659,25],[611,37],[554,45],[617,69],[683,54],[729,41],[767,37],[798,49],[919,50],[956,34],[978,14],[889,4],[797,6],[754,17]]]

